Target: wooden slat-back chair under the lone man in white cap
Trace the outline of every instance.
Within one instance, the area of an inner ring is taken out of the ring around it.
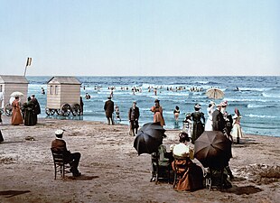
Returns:
[[[64,179],[65,173],[70,173],[70,162],[65,161],[62,152],[57,152],[51,149],[51,154],[54,163],[54,180],[56,180],[57,172],[59,171],[61,171],[61,177]],[[69,169],[69,171],[67,169]]]

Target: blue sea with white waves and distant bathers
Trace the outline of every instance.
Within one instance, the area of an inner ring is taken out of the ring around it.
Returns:
[[[41,88],[47,89],[47,81],[51,77],[27,77],[30,84],[28,94],[35,94],[42,106],[42,117],[45,117],[44,108],[46,95],[41,94]],[[228,100],[227,111],[234,115],[237,107],[242,115],[241,126],[245,134],[261,134],[280,136],[280,77],[77,77],[82,86],[81,96],[89,93],[91,98],[84,98],[84,115],[64,119],[83,119],[89,121],[107,122],[104,115],[104,102],[110,91],[108,87],[115,87],[113,101],[119,106],[122,118],[121,124],[128,125],[127,112],[133,101],[137,101],[140,108],[140,125],[153,121],[150,112],[154,99],[161,100],[165,128],[178,128],[174,124],[173,109],[180,106],[181,115],[179,128],[182,128],[184,114],[193,111],[195,103],[201,104],[202,112],[210,99],[205,96],[207,88],[220,88],[225,92],[223,100]],[[85,89],[83,87],[85,86]],[[99,88],[98,90],[95,87]],[[129,90],[121,90],[122,87]],[[142,88],[142,92],[135,95],[131,88]],[[148,87],[157,87],[157,96],[148,92]],[[182,90],[168,91],[167,87],[182,87]],[[203,88],[201,92],[190,92],[191,87]],[[239,88],[239,91],[236,88]],[[221,100],[216,100],[218,104]]]

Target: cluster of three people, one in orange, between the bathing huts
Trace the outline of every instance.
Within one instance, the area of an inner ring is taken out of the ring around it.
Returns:
[[[35,95],[28,97],[23,105],[20,102],[20,97],[14,97],[12,103],[12,125],[36,125],[39,114],[41,114],[41,107]]]

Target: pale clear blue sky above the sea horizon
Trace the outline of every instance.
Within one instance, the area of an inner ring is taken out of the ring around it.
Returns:
[[[0,0],[0,74],[280,76],[278,0]]]

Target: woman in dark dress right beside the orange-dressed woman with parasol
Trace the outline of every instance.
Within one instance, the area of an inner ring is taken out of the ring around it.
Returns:
[[[23,104],[23,118],[24,118],[24,125],[36,125],[36,118],[34,110],[34,104],[31,100],[31,97],[27,98],[27,102]]]

